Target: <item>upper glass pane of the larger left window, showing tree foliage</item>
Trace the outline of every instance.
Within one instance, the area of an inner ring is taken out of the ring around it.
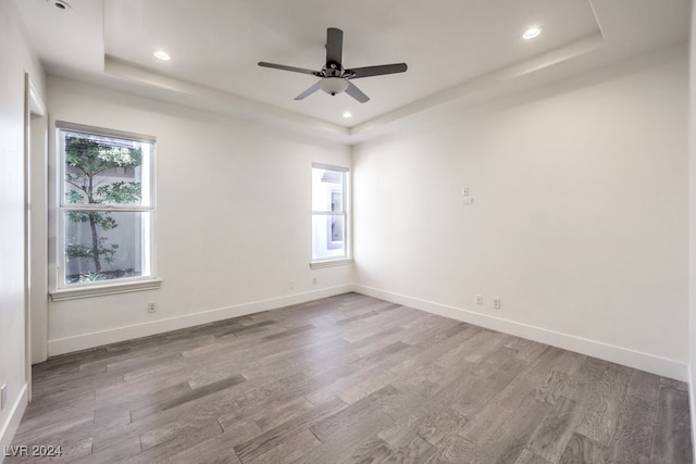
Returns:
[[[152,145],[62,131],[65,204],[150,205]]]

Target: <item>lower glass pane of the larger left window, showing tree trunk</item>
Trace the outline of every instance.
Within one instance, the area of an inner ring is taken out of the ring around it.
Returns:
[[[150,275],[151,213],[65,211],[65,284]]]

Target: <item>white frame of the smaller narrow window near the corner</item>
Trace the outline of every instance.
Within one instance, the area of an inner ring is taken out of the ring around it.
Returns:
[[[314,210],[314,205],[313,205],[313,195],[314,195],[314,181],[313,181],[313,171],[314,170],[326,170],[326,171],[334,171],[334,172],[338,172],[340,173],[340,175],[343,176],[343,183],[341,183],[341,200],[343,200],[343,208],[340,209],[340,212],[336,212],[336,211],[319,211],[319,210]],[[328,258],[314,258],[314,250],[313,250],[313,241],[314,241],[314,227],[311,226],[311,233],[310,233],[310,243],[312,243],[312,246],[310,247],[310,268],[321,268],[321,267],[330,267],[330,266],[339,266],[339,265],[346,265],[346,264],[350,264],[352,263],[352,247],[351,247],[351,239],[352,239],[352,234],[351,234],[351,214],[350,214],[350,168],[347,166],[337,166],[337,165],[333,165],[333,164],[324,164],[324,163],[312,163],[311,166],[311,171],[310,173],[312,175],[310,175],[310,188],[311,188],[311,221],[310,223],[313,223],[313,220],[315,216],[341,216],[343,221],[344,221],[344,244],[343,244],[343,249],[344,249],[344,254],[340,256],[328,256]],[[331,239],[331,230],[327,230],[327,238]],[[333,244],[328,244],[327,243],[327,248],[331,249],[336,249],[334,248]]]

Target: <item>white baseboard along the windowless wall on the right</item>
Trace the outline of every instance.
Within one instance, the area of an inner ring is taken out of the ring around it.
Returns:
[[[663,377],[686,383],[691,380],[688,377],[688,366],[683,362],[372,287],[356,285],[353,291],[588,356],[599,358],[600,360],[646,371]]]

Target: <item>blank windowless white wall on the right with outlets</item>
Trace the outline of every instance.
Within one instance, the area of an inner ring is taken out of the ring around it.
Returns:
[[[685,379],[687,67],[670,49],[356,147],[361,290]]]

